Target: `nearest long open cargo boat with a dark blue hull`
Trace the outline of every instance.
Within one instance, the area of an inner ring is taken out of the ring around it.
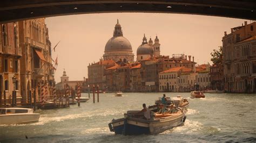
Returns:
[[[127,111],[124,118],[113,119],[109,123],[111,132],[123,135],[158,134],[170,128],[183,125],[186,120],[185,112],[176,108],[176,112],[158,114],[151,112],[151,119],[143,119],[143,114],[134,115],[139,111]]]

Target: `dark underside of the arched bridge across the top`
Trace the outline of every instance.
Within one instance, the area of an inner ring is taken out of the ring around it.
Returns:
[[[256,1],[254,0],[3,0],[0,3],[0,23],[32,18],[108,12],[184,13],[256,20]]]

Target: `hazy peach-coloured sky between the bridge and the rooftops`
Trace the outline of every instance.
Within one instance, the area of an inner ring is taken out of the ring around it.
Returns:
[[[158,35],[161,55],[184,53],[194,56],[199,64],[210,62],[210,53],[222,45],[224,31],[230,33],[231,27],[245,22],[244,19],[163,13],[100,13],[46,18],[52,47],[60,40],[56,52],[52,53],[54,60],[58,55],[57,82],[64,68],[69,80],[87,77],[87,66],[103,56],[117,19],[124,37],[131,42],[134,60],[145,33],[148,40]]]

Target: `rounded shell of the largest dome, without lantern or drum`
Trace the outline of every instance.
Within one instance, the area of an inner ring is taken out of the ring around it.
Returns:
[[[105,52],[109,51],[132,51],[132,46],[130,41],[123,36],[112,37],[105,46]]]

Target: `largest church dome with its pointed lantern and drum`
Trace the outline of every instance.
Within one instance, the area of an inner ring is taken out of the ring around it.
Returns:
[[[134,61],[131,43],[123,37],[122,27],[118,20],[114,27],[113,37],[106,43],[103,59],[123,62]]]

